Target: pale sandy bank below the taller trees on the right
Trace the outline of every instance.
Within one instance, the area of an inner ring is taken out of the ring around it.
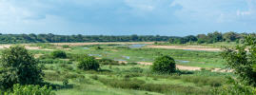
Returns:
[[[185,50],[205,50],[205,51],[221,51],[221,48],[203,47],[203,46],[148,46],[152,48],[170,48],[170,49],[185,49]]]

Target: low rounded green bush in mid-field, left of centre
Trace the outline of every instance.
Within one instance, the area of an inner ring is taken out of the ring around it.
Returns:
[[[77,67],[83,70],[98,70],[100,65],[94,57],[85,57],[78,63]]]

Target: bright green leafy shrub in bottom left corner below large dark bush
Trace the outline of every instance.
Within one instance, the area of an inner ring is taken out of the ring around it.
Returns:
[[[39,85],[13,85],[13,92],[6,95],[55,95],[51,87]]]

